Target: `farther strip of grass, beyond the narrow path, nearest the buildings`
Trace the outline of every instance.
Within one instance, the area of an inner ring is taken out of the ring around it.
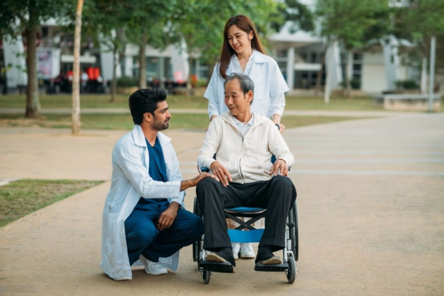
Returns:
[[[40,95],[42,108],[72,108],[72,97],[69,94]],[[170,108],[206,109],[208,101],[202,96],[190,96],[187,100],[183,95],[168,95]],[[25,112],[25,95],[0,95],[0,108],[23,108]],[[109,94],[81,95],[81,108],[128,108],[128,95],[118,95],[116,101],[109,102]],[[355,97],[348,100],[344,97],[332,97],[329,104],[323,97],[286,96],[287,110],[341,110],[341,111],[374,111],[383,110],[373,105],[369,96]]]

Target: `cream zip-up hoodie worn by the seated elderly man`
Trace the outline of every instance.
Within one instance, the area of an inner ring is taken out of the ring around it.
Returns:
[[[269,118],[253,113],[250,130],[242,137],[229,111],[211,121],[197,158],[199,167],[209,168],[219,161],[233,182],[249,183],[271,178],[271,156],[293,166],[294,157],[287,143]],[[213,156],[216,154],[216,160]]]

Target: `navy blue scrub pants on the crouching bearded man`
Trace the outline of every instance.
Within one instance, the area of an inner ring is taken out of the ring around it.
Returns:
[[[130,265],[139,259],[140,254],[153,262],[158,262],[159,257],[170,257],[203,234],[202,219],[183,208],[177,211],[171,227],[157,230],[157,220],[168,208],[168,201],[152,200],[148,205],[143,204],[143,208],[137,206],[125,220]]]

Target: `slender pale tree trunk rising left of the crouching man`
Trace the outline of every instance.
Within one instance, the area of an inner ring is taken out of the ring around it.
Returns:
[[[77,135],[80,132],[80,38],[82,31],[82,9],[83,0],[77,0],[73,62],[73,135]]]

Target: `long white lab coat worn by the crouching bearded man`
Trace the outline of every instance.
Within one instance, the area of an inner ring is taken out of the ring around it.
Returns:
[[[141,198],[166,198],[183,206],[180,190],[182,175],[171,139],[157,133],[167,166],[168,182],[154,181],[148,174],[149,155],[142,128],[134,125],[112,151],[111,188],[106,196],[102,217],[102,262],[100,267],[112,279],[132,278],[125,238],[125,220]],[[179,252],[160,258],[163,265],[177,270]]]

